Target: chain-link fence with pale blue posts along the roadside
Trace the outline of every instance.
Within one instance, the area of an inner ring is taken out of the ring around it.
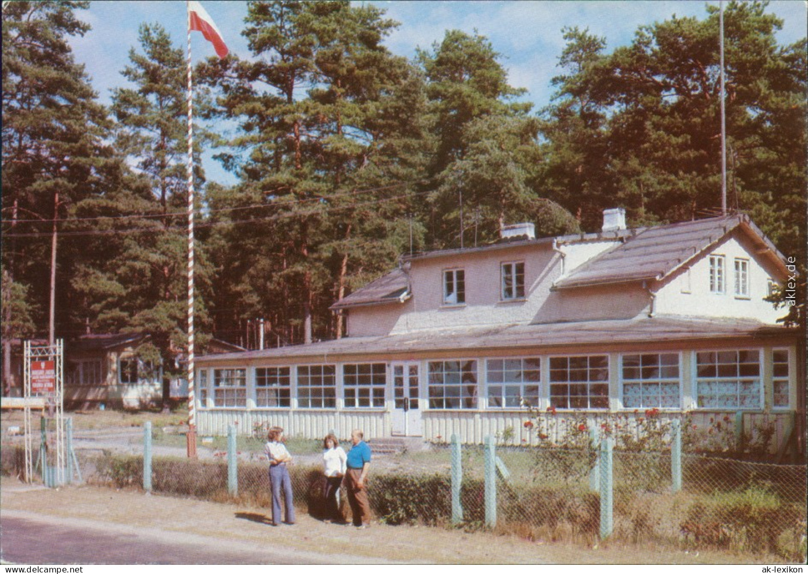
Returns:
[[[145,456],[79,450],[73,460],[86,483],[143,488],[150,458],[153,492],[238,502],[268,515],[270,482],[258,439],[252,454],[244,443],[242,452],[235,441],[222,446],[211,460],[149,456],[148,449]],[[601,446],[494,448],[491,441],[458,444],[456,457],[449,445],[374,455],[368,497],[376,519],[393,525],[487,526],[528,539],[587,544],[605,533],[623,542],[806,559],[806,466],[675,449],[607,453]],[[296,458],[289,466],[295,503],[325,517],[318,455]],[[21,475],[22,467],[21,449],[2,449],[4,474]],[[342,501],[350,519],[344,493]]]

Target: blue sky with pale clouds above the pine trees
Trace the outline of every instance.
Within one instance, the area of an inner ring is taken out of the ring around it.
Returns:
[[[241,35],[246,2],[201,2],[217,23],[230,52],[250,59],[246,39]],[[696,0],[566,0],[528,2],[366,2],[386,11],[385,16],[400,23],[385,45],[400,56],[415,57],[418,48],[430,49],[443,39],[447,30],[477,32],[490,40],[501,56],[513,87],[528,91],[524,99],[543,108],[553,95],[551,78],[558,75],[558,57],[564,48],[562,28],[588,28],[607,41],[607,51],[630,44],[643,24],[676,16],[706,16],[707,3]],[[768,11],[783,20],[777,34],[781,44],[791,44],[808,30],[808,3],[804,0],[771,2]],[[128,65],[128,53],[137,47],[141,23],[161,23],[176,45],[186,45],[185,2],[90,2],[78,17],[92,29],[71,44],[78,63],[86,66],[103,103],[110,103],[112,87],[124,87],[120,70]],[[199,32],[191,34],[194,63],[215,55],[213,46]],[[234,184],[234,175],[224,171],[212,158],[204,156],[208,181]]]

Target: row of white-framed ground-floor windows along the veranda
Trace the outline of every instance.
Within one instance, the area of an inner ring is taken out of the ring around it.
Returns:
[[[696,406],[760,409],[763,378],[760,350],[696,352]],[[541,399],[541,361],[549,361],[549,405],[559,409],[608,408],[608,355],[487,359],[486,399],[489,408],[520,408]],[[297,366],[297,407],[337,406],[337,365]],[[387,365],[342,365],[346,408],[385,407]],[[621,397],[625,408],[680,408],[680,353],[637,353],[621,356]],[[246,369],[199,372],[200,399],[215,407],[246,407]],[[402,373],[398,373],[401,378]],[[403,381],[403,379],[402,379]],[[773,406],[789,407],[789,352],[772,353]],[[403,384],[403,382],[402,382]],[[417,398],[410,390],[410,398]],[[478,408],[478,361],[427,361],[427,404],[431,409]],[[213,390],[213,395],[208,395]],[[401,390],[401,389],[399,389]],[[402,399],[402,393],[396,399]],[[410,404],[410,403],[408,403]],[[255,369],[255,406],[292,407],[292,368]],[[417,401],[410,407],[417,408]]]

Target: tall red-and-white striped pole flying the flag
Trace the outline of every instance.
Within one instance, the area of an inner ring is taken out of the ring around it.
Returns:
[[[191,82],[191,6],[185,2],[188,32],[188,458],[196,458],[196,413],[194,404],[194,125]]]

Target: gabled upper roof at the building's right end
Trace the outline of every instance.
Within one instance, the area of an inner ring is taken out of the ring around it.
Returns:
[[[557,281],[554,287],[570,289],[661,280],[738,227],[746,230],[782,266],[782,255],[747,216],[729,215],[637,230],[636,234],[625,238],[625,243],[604,251],[574,269],[570,275]]]

